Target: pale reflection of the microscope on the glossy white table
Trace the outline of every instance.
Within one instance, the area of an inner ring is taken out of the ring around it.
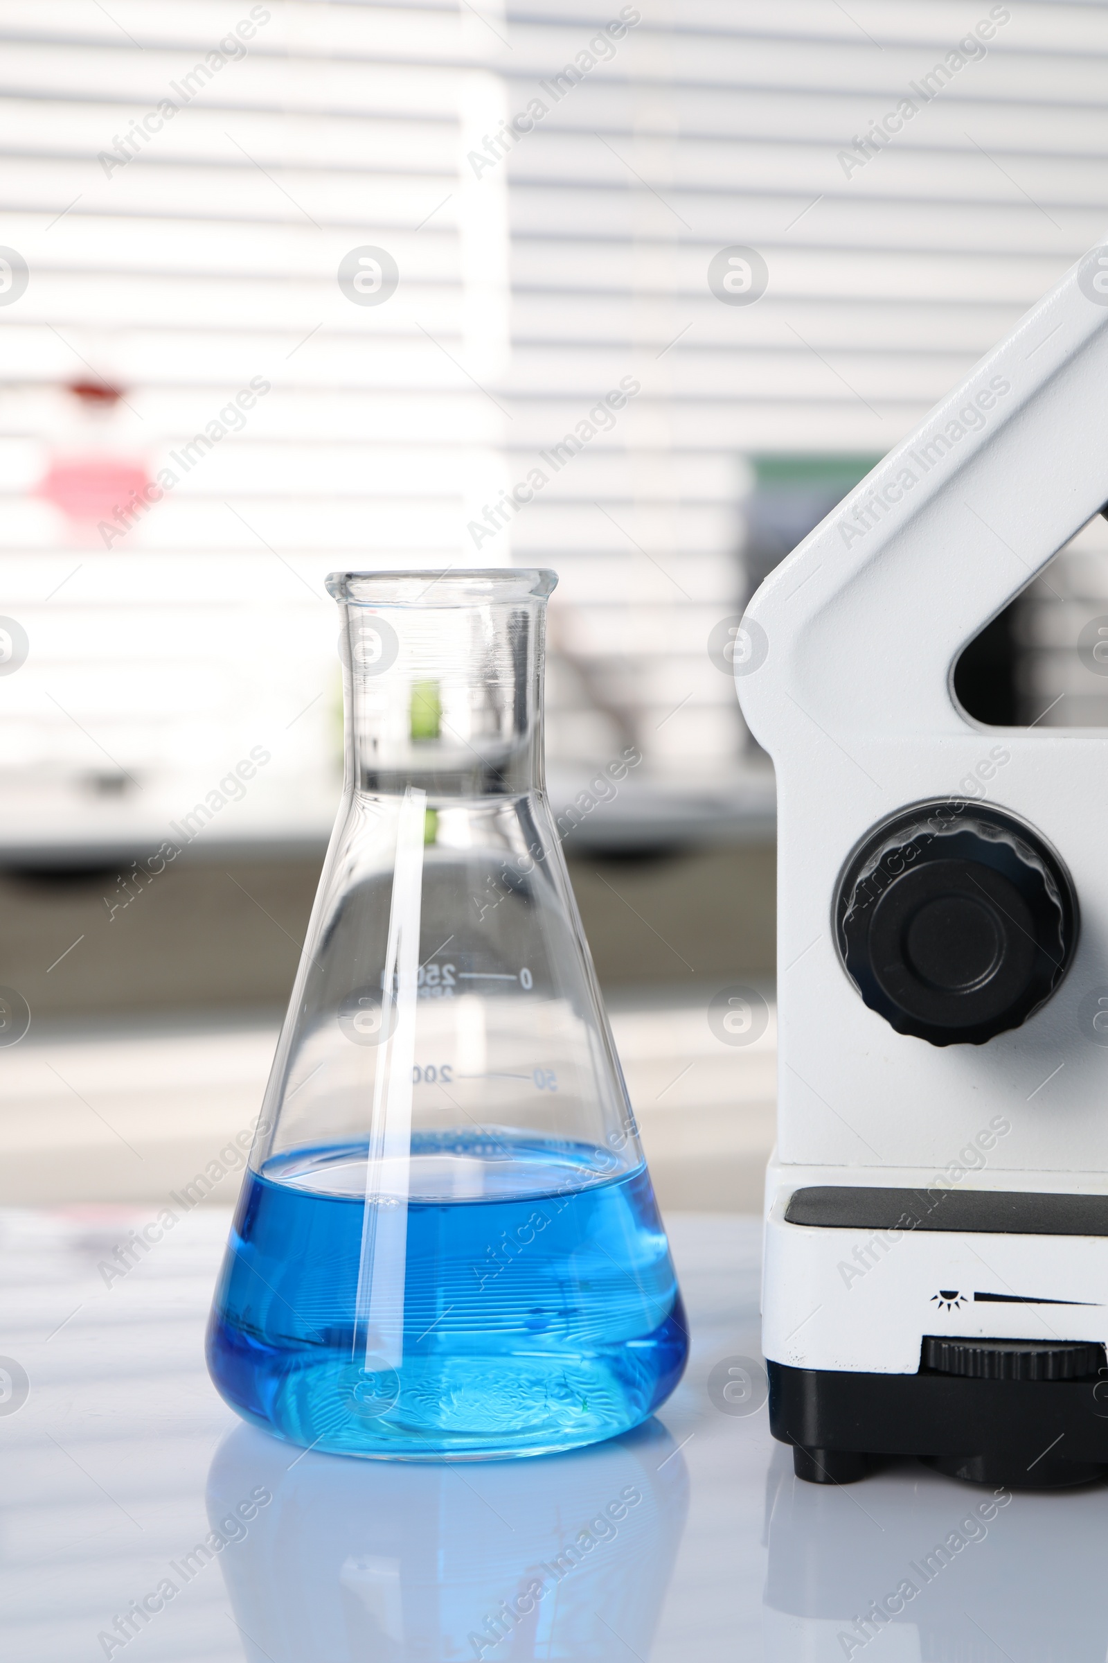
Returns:
[[[1108,1490],[766,1480],[766,1663],[1103,1663]]]

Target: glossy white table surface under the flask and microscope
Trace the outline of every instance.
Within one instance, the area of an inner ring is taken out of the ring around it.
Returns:
[[[912,1462],[802,1485],[764,1407],[716,1407],[711,1370],[757,1357],[754,1221],[671,1217],[693,1355],[648,1429],[556,1458],[409,1467],[297,1455],[219,1400],[203,1329],[228,1217],[198,1209],[105,1287],[98,1262],[143,1214],[0,1214],[0,1354],[18,1365],[0,1364],[17,1380],[0,1402],[5,1660],[472,1660],[538,1578],[543,1600],[488,1663],[1103,1663],[1106,1487],[1017,1493],[965,1525],[992,1492]],[[641,1500],[555,1575],[628,1487]],[[209,1538],[256,1490],[272,1500]],[[955,1535],[924,1582],[910,1567]],[[223,1537],[238,1540],[214,1552]],[[912,1577],[919,1595],[865,1640],[854,1620]],[[118,1643],[116,1616],[158,1605],[166,1578],[174,1596]]]

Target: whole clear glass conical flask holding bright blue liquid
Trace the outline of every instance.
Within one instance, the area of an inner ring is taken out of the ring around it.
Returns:
[[[346,787],[208,1335],[224,1399],[292,1443],[538,1455],[645,1420],[684,1367],[543,790],[555,582],[327,580]]]

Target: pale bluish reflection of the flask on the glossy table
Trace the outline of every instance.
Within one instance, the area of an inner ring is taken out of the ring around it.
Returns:
[[[236,1525],[259,1490],[272,1500]],[[249,1663],[648,1658],[686,1508],[684,1458],[659,1422],[465,1480],[314,1452],[289,1467],[238,1427],[208,1482]]]

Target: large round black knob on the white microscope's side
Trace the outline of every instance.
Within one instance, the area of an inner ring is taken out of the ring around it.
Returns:
[[[836,898],[839,953],[872,1011],[930,1044],[983,1044],[1058,988],[1078,933],[1058,855],[1013,815],[958,798],[875,827]]]

